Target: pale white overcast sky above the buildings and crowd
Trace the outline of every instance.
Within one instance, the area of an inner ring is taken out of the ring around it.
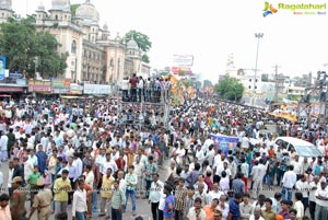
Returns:
[[[40,0],[12,0],[19,14],[33,13]],[[83,3],[85,0],[71,0]],[[23,3],[25,2],[25,3]],[[26,3],[27,2],[27,3]],[[236,67],[254,69],[257,39],[258,69],[289,76],[324,70],[328,63],[328,14],[295,15],[289,10],[262,16],[262,0],[91,0],[98,9],[113,37],[129,30],[147,34],[153,43],[150,59],[153,68],[171,66],[173,55],[194,55],[192,70],[202,78],[216,81],[225,72],[226,60],[234,54]],[[271,0],[278,3],[327,3],[326,0]],[[51,0],[43,0],[47,10]],[[328,70],[328,67],[327,67]]]

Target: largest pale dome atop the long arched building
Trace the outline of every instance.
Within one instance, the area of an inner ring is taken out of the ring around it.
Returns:
[[[89,0],[77,9],[75,16],[87,23],[97,24],[99,22],[99,12]]]

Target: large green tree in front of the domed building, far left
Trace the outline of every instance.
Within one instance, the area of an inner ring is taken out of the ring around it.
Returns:
[[[10,19],[0,30],[0,55],[8,58],[8,69],[33,78],[35,70],[57,76],[67,68],[68,55],[56,53],[60,45],[51,34],[36,32],[33,16]]]

